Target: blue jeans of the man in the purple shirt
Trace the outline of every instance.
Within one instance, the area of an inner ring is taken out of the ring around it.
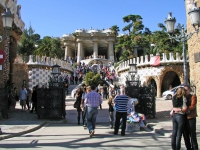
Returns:
[[[88,107],[87,109],[87,127],[89,133],[95,129],[98,107]]]

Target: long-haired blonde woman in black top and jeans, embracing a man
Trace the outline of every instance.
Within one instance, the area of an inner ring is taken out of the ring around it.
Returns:
[[[171,146],[173,150],[181,149],[181,136],[183,133],[184,124],[186,122],[185,111],[187,109],[186,106],[187,99],[185,95],[186,95],[185,89],[183,87],[179,87],[172,99],[174,114],[172,119],[173,132],[172,132]]]

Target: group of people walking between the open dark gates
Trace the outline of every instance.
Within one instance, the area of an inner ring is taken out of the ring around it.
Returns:
[[[125,135],[127,118],[133,113],[133,111],[129,112],[129,104],[134,107],[134,103],[132,103],[132,99],[125,94],[125,87],[123,85],[121,87],[115,85],[114,88],[106,86],[105,84],[103,86],[98,85],[97,87],[93,85],[80,87],[77,89],[75,97],[75,103],[78,103],[78,107],[75,107],[78,112],[78,125],[80,125],[82,116],[82,124],[84,127],[88,128],[91,137],[94,135],[98,108],[102,109],[101,104],[103,100],[108,100],[110,128],[114,128],[114,134],[117,135],[121,127],[121,135]],[[129,103],[129,101],[131,101],[131,103]],[[143,121],[144,120],[138,120],[139,123]]]

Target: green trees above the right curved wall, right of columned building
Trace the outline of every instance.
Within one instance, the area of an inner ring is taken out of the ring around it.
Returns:
[[[135,47],[143,49],[145,54],[157,53],[182,53],[182,43],[175,40],[170,40],[166,27],[163,23],[158,23],[161,30],[151,32],[148,28],[144,29],[140,15],[127,15],[122,18],[125,23],[128,23],[122,31],[128,31],[128,34],[118,37],[115,44],[115,52],[119,56],[119,60],[126,61],[134,55]],[[175,34],[179,35],[181,32],[181,25],[175,29]],[[151,47],[155,44],[155,47]],[[186,44],[187,48],[187,44]]]

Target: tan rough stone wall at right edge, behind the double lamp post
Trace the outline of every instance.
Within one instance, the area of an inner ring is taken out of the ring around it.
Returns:
[[[186,3],[186,16],[187,16],[187,31],[194,32],[194,28],[191,25],[191,21],[188,15],[189,9],[192,7],[193,0],[185,0]],[[200,7],[200,0],[197,0],[197,6]],[[188,54],[191,58],[189,60],[190,66],[190,81],[196,86],[197,95],[197,111],[198,118],[200,119],[200,62],[195,63],[194,54],[200,52],[200,35],[194,34],[192,38],[188,41]]]

